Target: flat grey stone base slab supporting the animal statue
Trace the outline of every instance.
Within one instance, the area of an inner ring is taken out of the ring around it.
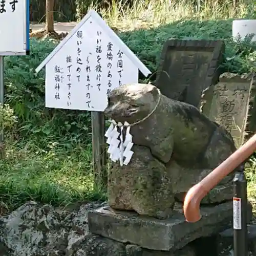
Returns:
[[[182,205],[178,205],[172,218],[167,220],[101,207],[88,213],[88,222],[92,233],[105,238],[150,250],[175,251],[200,237],[211,236],[231,227],[232,201],[216,206],[201,206],[201,214],[199,222],[188,223]]]

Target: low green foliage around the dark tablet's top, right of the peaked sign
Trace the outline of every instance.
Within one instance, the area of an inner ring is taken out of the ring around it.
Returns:
[[[150,30],[120,33],[130,49],[155,72],[164,42],[174,39],[224,40],[226,44],[223,72],[244,73],[255,71],[256,44],[247,41],[234,42],[231,38],[232,20],[184,20]]]

